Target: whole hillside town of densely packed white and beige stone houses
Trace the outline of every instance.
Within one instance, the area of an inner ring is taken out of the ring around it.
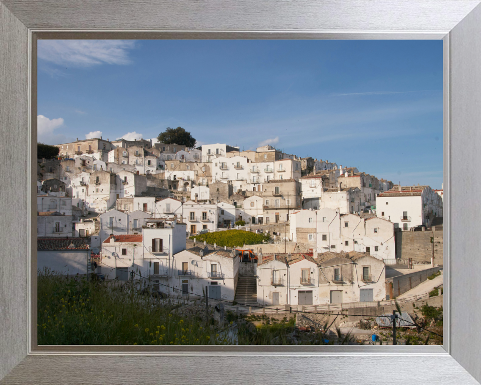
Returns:
[[[442,270],[442,189],[271,145],[100,137],[56,147],[38,159],[39,270],[183,301],[207,292],[250,313],[379,308]],[[267,240],[199,238],[232,230]]]

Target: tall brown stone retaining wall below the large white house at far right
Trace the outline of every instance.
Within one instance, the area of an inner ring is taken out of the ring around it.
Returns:
[[[397,231],[394,237],[396,258],[412,258],[414,263],[415,261],[431,262],[434,249],[434,264],[442,265],[442,230]]]

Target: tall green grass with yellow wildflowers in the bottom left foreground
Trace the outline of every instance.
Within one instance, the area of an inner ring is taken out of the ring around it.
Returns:
[[[215,328],[171,313],[148,295],[107,288],[86,278],[38,275],[40,345],[223,344]]]

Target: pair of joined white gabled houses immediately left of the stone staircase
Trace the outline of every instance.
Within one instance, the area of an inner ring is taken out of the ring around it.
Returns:
[[[230,250],[193,247],[174,255],[173,268],[174,294],[203,297],[207,287],[209,299],[233,301],[239,258]]]

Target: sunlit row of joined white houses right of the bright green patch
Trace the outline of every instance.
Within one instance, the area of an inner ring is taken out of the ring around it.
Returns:
[[[394,224],[389,221],[365,220],[332,209],[301,210],[290,215],[290,231],[293,241],[306,251],[356,251],[378,259],[395,258]]]

